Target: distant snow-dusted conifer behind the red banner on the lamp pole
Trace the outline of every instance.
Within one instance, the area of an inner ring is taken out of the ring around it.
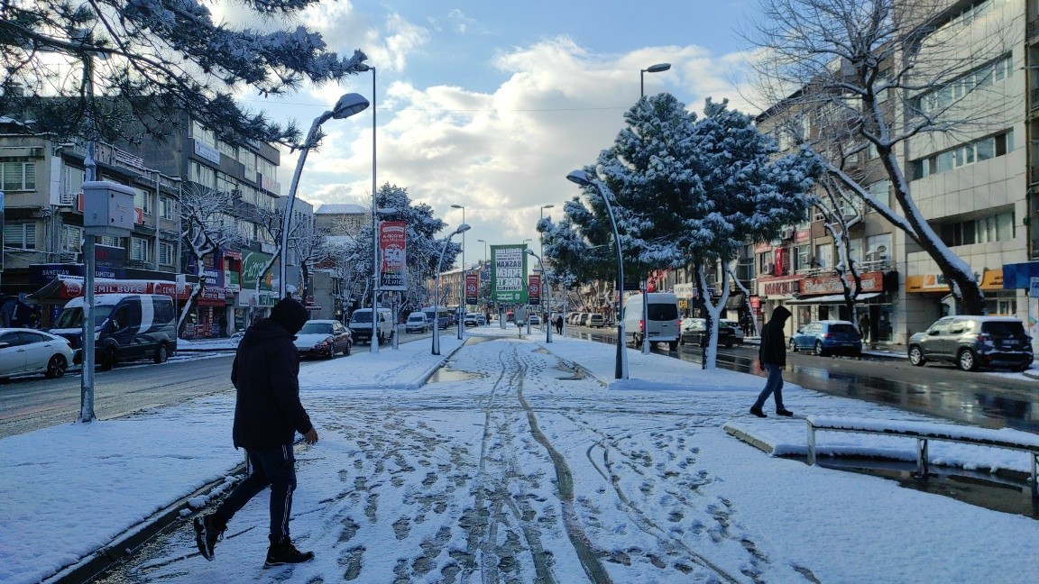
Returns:
[[[451,241],[444,254],[444,265],[436,262],[444,248],[444,238],[436,234],[447,228],[443,219],[433,216],[433,209],[425,203],[414,204],[407,194],[406,187],[384,183],[376,193],[377,209],[395,209],[396,212],[382,217],[384,220],[404,221],[406,223],[407,244],[407,286],[400,308],[416,310],[428,302],[426,281],[454,267],[455,258],[461,254],[461,243]],[[341,260],[349,266],[349,272],[344,274],[344,288],[353,291],[362,306],[371,304],[372,273],[373,273],[373,232],[370,222],[361,228],[356,239],[342,249]]]

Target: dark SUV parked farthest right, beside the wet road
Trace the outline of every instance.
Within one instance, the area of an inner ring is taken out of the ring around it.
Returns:
[[[955,363],[963,371],[979,366],[1024,371],[1032,365],[1032,337],[1019,319],[1002,316],[947,316],[909,338],[909,363]]]

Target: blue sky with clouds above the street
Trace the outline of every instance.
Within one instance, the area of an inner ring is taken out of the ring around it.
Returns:
[[[748,47],[737,32],[753,0],[547,2],[326,2],[305,15],[337,51],[361,49],[377,73],[379,185],[407,187],[452,228],[462,220],[467,262],[490,244],[534,238],[541,206],[561,213],[579,193],[568,171],[593,162],[621,129],[623,112],[646,94],[669,91],[700,109],[707,97],[753,111],[734,86]],[[233,14],[225,15],[234,21]],[[307,87],[278,101],[245,97],[305,130],[337,98],[371,98],[370,74],[340,86]],[[366,111],[323,126],[299,194],[315,204],[369,206],[372,117]],[[283,191],[295,165],[283,157]]]

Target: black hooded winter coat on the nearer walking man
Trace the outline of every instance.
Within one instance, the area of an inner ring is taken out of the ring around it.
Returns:
[[[311,418],[299,402],[299,351],[295,339],[269,318],[249,326],[231,367],[238,390],[235,447],[266,450],[292,444],[295,432],[311,431]]]

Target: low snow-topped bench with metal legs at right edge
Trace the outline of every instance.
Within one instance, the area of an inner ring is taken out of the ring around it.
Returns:
[[[816,432],[819,430],[914,437],[916,439],[916,472],[922,477],[927,476],[927,443],[932,440],[1028,452],[1032,461],[1032,497],[1039,499],[1039,484],[1036,483],[1036,473],[1039,470],[1039,435],[1009,428],[993,430],[954,424],[868,418],[809,416],[805,418],[805,421],[808,423],[808,464],[816,463]]]

